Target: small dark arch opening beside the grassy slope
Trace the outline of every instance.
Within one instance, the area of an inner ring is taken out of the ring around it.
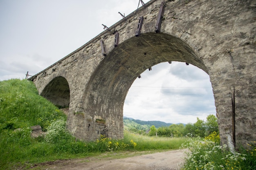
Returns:
[[[58,76],[50,81],[40,95],[59,108],[69,107],[70,87],[67,80],[62,76]]]

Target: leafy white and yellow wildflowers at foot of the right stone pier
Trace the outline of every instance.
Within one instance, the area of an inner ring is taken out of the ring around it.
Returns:
[[[217,132],[211,133],[203,141],[189,139],[182,147],[189,148],[181,170],[253,170],[256,169],[256,146],[242,149],[232,154],[227,145],[220,146]],[[255,144],[255,142],[254,142]]]

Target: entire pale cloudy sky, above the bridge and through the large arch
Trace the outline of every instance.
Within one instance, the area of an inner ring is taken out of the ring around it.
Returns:
[[[143,0],[144,3],[149,0]],[[0,0],[0,81],[34,75],[135,11],[139,0]],[[141,6],[141,4],[139,5]],[[209,76],[185,63],[160,63],[129,89],[124,116],[194,123],[215,115]]]

